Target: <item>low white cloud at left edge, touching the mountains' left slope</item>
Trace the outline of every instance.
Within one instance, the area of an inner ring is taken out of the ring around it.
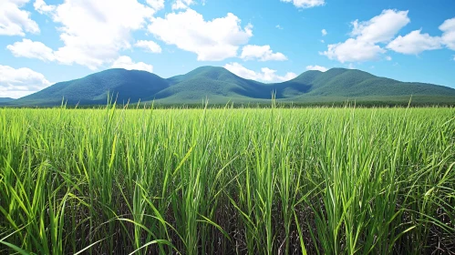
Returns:
[[[0,65],[0,97],[25,97],[50,85],[45,76],[32,69]]]

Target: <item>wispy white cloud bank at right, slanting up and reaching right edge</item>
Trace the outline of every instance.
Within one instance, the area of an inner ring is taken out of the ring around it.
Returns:
[[[419,29],[394,39],[399,30],[409,22],[408,11],[397,10],[384,10],[368,21],[353,21],[353,30],[350,33],[352,38],[343,43],[329,45],[327,50],[320,54],[345,63],[376,60],[386,53],[386,48],[407,55],[418,55],[443,46],[455,50],[455,18],[448,19],[439,26],[443,32],[440,37],[422,34]],[[386,56],[386,59],[389,61],[391,57]]]

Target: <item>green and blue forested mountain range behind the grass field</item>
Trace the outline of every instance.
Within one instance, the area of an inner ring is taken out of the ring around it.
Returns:
[[[105,105],[108,93],[118,103],[154,101],[160,104],[270,102],[406,103],[409,98],[426,104],[455,105],[455,89],[438,85],[400,82],[367,72],[332,68],[326,72],[306,71],[292,80],[264,84],[236,76],[223,67],[202,66],[188,74],[162,78],[146,71],[109,69],[76,80],[59,82],[35,94],[0,103],[6,106]]]

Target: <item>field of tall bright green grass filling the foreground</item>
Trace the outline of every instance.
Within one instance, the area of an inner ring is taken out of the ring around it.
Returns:
[[[455,109],[0,109],[0,253],[455,252]]]

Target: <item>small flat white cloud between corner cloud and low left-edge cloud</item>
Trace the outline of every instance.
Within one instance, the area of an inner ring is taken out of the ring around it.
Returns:
[[[23,56],[27,58],[37,58],[43,61],[54,61],[54,51],[41,42],[34,42],[29,39],[23,39],[22,42],[16,42],[13,45],[6,46],[14,56]]]

